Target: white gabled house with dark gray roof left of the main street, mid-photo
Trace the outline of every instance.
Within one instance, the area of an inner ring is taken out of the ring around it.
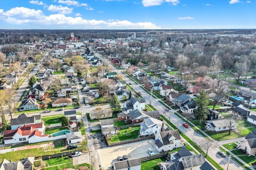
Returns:
[[[134,98],[131,97],[128,101],[124,102],[124,108],[122,108],[122,112],[128,113],[135,109],[145,109],[146,100],[145,98]]]

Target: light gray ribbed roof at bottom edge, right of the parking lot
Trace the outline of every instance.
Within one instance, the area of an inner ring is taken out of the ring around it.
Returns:
[[[204,154],[185,156],[185,157],[182,157],[181,159],[185,169],[192,168],[194,166],[200,166],[205,162]]]

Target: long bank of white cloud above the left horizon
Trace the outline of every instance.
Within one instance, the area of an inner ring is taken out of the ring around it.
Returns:
[[[62,6],[51,6],[51,8],[63,10]],[[65,8],[66,9],[66,8]],[[86,27],[87,29],[161,29],[151,22],[137,22],[132,23],[131,21],[119,21],[119,20],[85,20],[80,17],[79,13],[75,14],[76,17],[67,17],[64,14],[52,14],[50,16],[45,16],[41,10],[34,10],[24,7],[12,8],[9,11],[4,12],[0,10],[0,18],[2,22],[16,24],[22,27],[25,24],[31,25],[31,29],[36,29],[37,27],[49,29],[49,28],[69,28],[69,29],[79,29],[81,27]]]

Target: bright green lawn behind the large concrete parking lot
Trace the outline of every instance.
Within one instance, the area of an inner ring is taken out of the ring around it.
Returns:
[[[118,131],[117,135],[114,135],[113,137],[108,137],[108,140],[110,142],[118,142],[118,141],[127,141],[131,139],[137,139],[138,134],[140,131],[140,126],[135,126],[132,128],[126,128],[126,129],[121,129]]]

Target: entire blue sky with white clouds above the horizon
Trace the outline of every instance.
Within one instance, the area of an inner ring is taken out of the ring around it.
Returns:
[[[0,29],[251,29],[256,0],[0,0]]]

